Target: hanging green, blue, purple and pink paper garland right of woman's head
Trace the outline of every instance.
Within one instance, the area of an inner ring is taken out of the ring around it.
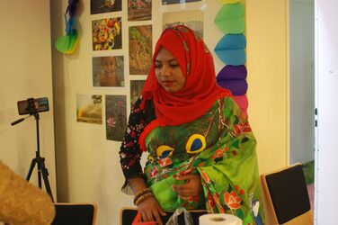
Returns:
[[[217,83],[231,91],[234,101],[247,114],[245,4],[239,0],[218,1],[224,5],[219,9],[214,22],[224,36],[214,50],[226,66],[219,71]]]

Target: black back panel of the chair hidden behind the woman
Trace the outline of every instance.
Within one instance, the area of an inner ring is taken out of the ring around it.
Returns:
[[[166,216],[162,217],[162,223],[165,224],[167,220],[173,215],[173,211],[165,211]],[[193,220],[194,225],[199,225],[199,217],[203,214],[208,213],[207,211],[194,211],[191,212],[191,218]],[[135,219],[136,215],[138,214],[137,210],[127,209],[122,211],[122,225],[130,225],[133,220]],[[184,215],[183,213],[178,216],[178,224],[185,224],[184,223]]]

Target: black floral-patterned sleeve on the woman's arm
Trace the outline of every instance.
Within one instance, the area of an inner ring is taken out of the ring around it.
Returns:
[[[126,133],[122,140],[119,152],[120,166],[126,181],[132,177],[143,177],[143,169],[139,162],[142,156],[142,150],[139,147],[138,138],[147,124],[155,119],[152,102],[149,104],[147,101],[145,110],[141,110],[141,102],[141,98],[138,98],[138,101],[131,108]],[[125,183],[123,187],[126,185],[127,183]]]

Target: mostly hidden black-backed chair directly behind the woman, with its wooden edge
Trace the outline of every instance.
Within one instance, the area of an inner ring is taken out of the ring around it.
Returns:
[[[203,214],[208,213],[208,211],[196,210],[189,211],[191,213],[191,219],[193,224],[199,224],[199,217]],[[165,211],[166,216],[162,217],[162,222],[165,224],[167,220],[173,215],[173,211]],[[120,225],[130,225],[138,214],[138,209],[136,207],[123,207],[120,209]],[[184,224],[184,216],[181,214],[178,216],[178,224]]]

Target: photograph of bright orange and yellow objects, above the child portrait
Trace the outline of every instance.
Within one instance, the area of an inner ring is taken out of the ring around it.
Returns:
[[[122,49],[121,17],[92,21],[93,50]]]

